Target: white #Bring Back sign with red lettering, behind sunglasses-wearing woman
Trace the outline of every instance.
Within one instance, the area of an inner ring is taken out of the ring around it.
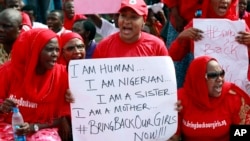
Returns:
[[[245,31],[245,23],[227,19],[194,19],[194,27],[204,32],[203,39],[195,42],[195,57],[215,57],[226,71],[225,79],[248,91],[247,47],[235,41],[238,32]]]

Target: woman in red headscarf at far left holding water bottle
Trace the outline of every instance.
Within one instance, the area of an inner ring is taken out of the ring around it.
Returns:
[[[0,69],[0,113],[5,123],[1,125],[11,123],[11,109],[18,106],[25,123],[17,132],[27,135],[28,141],[60,141],[58,132],[67,140],[70,134],[65,124],[70,115],[65,101],[67,71],[56,63],[58,39],[48,29],[22,33],[14,43],[11,61]],[[1,138],[11,139],[12,129],[3,130],[6,126],[0,126]]]

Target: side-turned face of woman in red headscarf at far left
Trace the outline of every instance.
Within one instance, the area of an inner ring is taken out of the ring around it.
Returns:
[[[57,38],[52,38],[42,49],[39,56],[37,71],[43,72],[52,69],[59,56],[59,46]]]

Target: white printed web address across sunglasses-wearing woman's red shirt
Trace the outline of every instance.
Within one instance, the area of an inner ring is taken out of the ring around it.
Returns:
[[[214,121],[214,122],[192,122],[192,121],[186,121],[182,120],[183,124],[189,128],[193,128],[194,130],[198,128],[212,128],[215,129],[217,127],[226,126],[227,122],[225,120],[222,121]]]

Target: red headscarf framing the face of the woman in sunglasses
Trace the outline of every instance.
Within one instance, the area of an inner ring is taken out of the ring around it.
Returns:
[[[222,92],[221,96],[216,98],[217,100],[214,103],[211,103],[212,101],[209,98],[205,75],[207,64],[211,60],[216,59],[209,56],[201,56],[194,59],[188,68],[183,88],[180,89],[181,93],[184,92],[182,94],[186,98],[203,109],[215,108],[224,97],[224,93]],[[225,88],[226,85],[224,84],[223,91]]]

